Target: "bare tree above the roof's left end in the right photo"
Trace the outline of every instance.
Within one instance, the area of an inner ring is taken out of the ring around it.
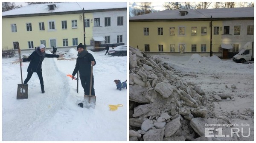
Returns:
[[[151,12],[155,12],[153,8],[151,8],[151,2],[141,2],[140,8],[134,8],[131,11],[131,14],[134,16],[149,14]]]

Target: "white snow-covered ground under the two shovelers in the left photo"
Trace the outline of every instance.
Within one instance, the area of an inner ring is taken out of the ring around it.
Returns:
[[[115,79],[127,79],[127,56],[108,56],[92,52],[96,109],[81,108],[84,92],[79,94],[72,74],[77,51],[64,53],[64,60],[45,58],[42,64],[44,89],[41,93],[36,73],[28,82],[28,99],[17,100],[21,84],[18,56],[2,58],[2,140],[3,141],[126,141],[127,93],[116,90]],[[47,53],[50,53],[47,50]],[[21,54],[29,56],[28,53]],[[29,62],[22,63],[23,81]],[[122,104],[111,111],[108,105]]]

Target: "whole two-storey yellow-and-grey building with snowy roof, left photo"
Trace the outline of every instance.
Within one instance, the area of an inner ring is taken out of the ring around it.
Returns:
[[[2,50],[40,44],[68,49],[79,43],[90,50],[127,45],[127,3],[45,3],[2,12]]]

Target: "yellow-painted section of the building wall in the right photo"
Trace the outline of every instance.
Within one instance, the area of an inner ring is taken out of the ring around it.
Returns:
[[[192,52],[190,45],[206,45],[210,47],[210,21],[192,21],[192,22],[130,22],[129,23],[129,43],[134,48],[145,51],[145,45],[150,45],[150,52],[182,52],[180,49],[184,45],[183,52]],[[222,26],[221,21],[212,23],[218,27]],[[148,28],[148,34],[144,35],[145,28]],[[158,28],[163,28],[163,34],[158,33]],[[201,31],[204,28],[206,31]],[[182,31],[184,29],[184,31]],[[136,35],[136,36],[135,36]],[[139,38],[138,38],[139,37]],[[212,34],[215,41],[212,44],[212,51],[218,52],[217,45],[221,44],[221,34]],[[159,50],[158,45],[163,45],[163,51]],[[201,51],[201,46],[196,46],[193,52]]]

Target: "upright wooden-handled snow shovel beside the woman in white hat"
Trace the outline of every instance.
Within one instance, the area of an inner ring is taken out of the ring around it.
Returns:
[[[18,52],[20,55],[20,46],[17,45],[17,47],[18,47]],[[21,84],[18,84],[17,99],[27,99],[28,98],[28,84],[23,84],[21,62],[20,62],[20,76],[21,76]]]

